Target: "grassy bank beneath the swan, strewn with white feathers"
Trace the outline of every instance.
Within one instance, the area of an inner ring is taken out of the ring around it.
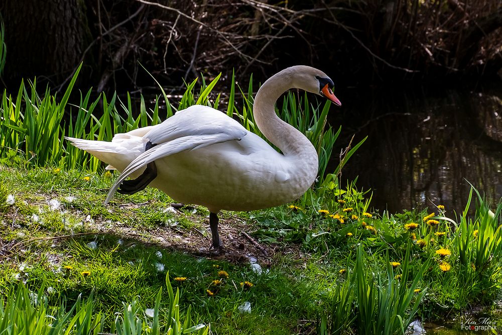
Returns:
[[[113,181],[107,173],[4,166],[0,180],[4,253],[0,289],[8,292],[20,282],[35,292],[45,287],[51,308],[62,303],[71,306],[79,296],[91,299],[85,301],[92,301],[92,315],[101,312],[99,322],[105,329],[111,329],[114,313],[122,313],[124,304],[134,304],[139,315],[154,308],[168,271],[170,284],[180,288],[182,314],[191,306],[193,323],[210,324],[217,334],[324,335],[345,333],[362,324],[368,328],[358,333],[375,329],[401,333],[415,313],[433,317],[470,304],[489,305],[500,292],[501,265],[496,258],[484,269],[470,267],[474,275],[467,278],[472,280],[465,279],[465,267],[454,248],[462,236],[460,228],[439,238],[435,233],[446,228],[447,221],[432,228],[423,222],[425,212],[368,213],[364,195],[354,188],[332,190],[342,194],[339,200],[344,203],[326,201],[330,213],[344,215],[343,224],[319,213],[320,200],[300,209],[285,205],[247,214],[223,213],[227,227],[237,229],[234,237],[245,220],[255,238],[269,251],[275,250],[260,261],[264,269],[270,264],[269,272],[257,275],[245,261],[226,261],[210,252],[196,256],[210,243],[207,211],[164,211],[172,200],[157,190],[119,195],[104,206]],[[7,203],[9,195],[14,195],[14,204]],[[51,200],[59,201],[59,207],[54,208]],[[478,206],[482,209],[486,204],[478,199]],[[343,211],[346,208],[352,210]],[[474,227],[484,222],[481,209],[470,218],[477,222]],[[363,221],[375,231],[366,229]],[[417,240],[428,241],[423,248],[404,228],[411,221],[420,224],[414,231]],[[431,241],[433,237],[437,241]],[[469,241],[474,248],[476,238]],[[447,272],[439,268],[435,251],[440,247],[452,253]],[[246,248],[257,253],[250,244]],[[471,253],[475,254],[467,252]],[[401,265],[392,269],[391,261]],[[220,270],[229,278],[215,285]],[[82,274],[86,271],[88,276]],[[177,282],[175,277],[187,280]],[[244,281],[254,286],[243,289]],[[215,295],[208,296],[206,290]],[[239,311],[246,301],[251,303],[250,313]],[[160,310],[168,309],[168,303],[161,299]]]

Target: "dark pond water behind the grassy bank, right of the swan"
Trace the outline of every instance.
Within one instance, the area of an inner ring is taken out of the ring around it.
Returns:
[[[342,96],[342,94],[344,96]],[[339,146],[359,148],[342,171],[371,189],[375,209],[400,212],[443,204],[460,213],[472,183],[491,203],[502,196],[502,82],[469,89],[350,89],[330,123]],[[333,165],[338,163],[334,152]]]

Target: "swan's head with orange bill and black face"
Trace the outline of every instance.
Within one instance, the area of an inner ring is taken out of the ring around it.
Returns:
[[[316,93],[341,106],[340,100],[333,94],[333,80],[326,73],[316,68],[304,65],[292,66],[284,71],[291,72],[294,87]]]

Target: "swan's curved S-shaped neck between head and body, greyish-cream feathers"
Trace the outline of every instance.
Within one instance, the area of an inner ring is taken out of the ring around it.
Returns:
[[[265,81],[256,94],[253,115],[258,129],[284,156],[304,156],[317,160],[317,151],[312,143],[295,127],[282,121],[275,112],[275,103],[281,94],[296,88],[293,76],[283,70]]]

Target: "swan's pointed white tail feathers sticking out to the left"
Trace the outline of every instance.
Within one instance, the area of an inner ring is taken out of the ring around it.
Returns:
[[[124,141],[90,141],[76,139],[73,137],[65,137],[71,144],[79,149],[87,151],[92,156],[100,161],[108,164],[106,169],[116,169],[122,171],[129,165],[136,157],[138,157],[144,150],[142,141],[128,139],[127,143]]]

